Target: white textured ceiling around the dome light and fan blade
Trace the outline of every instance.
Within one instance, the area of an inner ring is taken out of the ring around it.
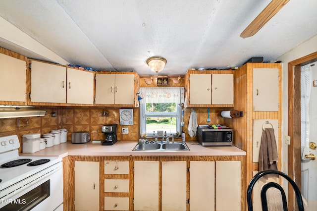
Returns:
[[[317,34],[317,1],[290,0],[257,34],[241,38],[269,2],[0,0],[1,31],[9,28],[7,34],[0,31],[0,47],[40,60],[140,75],[156,74],[146,64],[154,55],[167,60],[160,75],[241,66],[253,56],[275,60]]]

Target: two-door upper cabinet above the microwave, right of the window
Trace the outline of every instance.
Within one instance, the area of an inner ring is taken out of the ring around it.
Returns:
[[[185,75],[187,107],[233,107],[232,70],[189,70]]]

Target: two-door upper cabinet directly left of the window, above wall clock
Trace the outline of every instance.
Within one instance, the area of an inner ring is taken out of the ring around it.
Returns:
[[[136,106],[136,78],[133,72],[96,74],[95,104],[101,106]]]

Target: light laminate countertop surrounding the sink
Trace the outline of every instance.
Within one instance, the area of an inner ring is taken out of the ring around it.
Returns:
[[[66,157],[66,156],[245,156],[246,152],[235,146],[203,147],[195,141],[186,142],[190,151],[132,151],[136,141],[118,141],[111,146],[88,142],[86,144],[61,143],[36,153],[20,153],[20,156]]]

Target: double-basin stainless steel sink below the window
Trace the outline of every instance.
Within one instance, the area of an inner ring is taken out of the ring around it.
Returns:
[[[132,151],[189,151],[184,142],[163,142],[163,143],[145,143],[137,144]]]

